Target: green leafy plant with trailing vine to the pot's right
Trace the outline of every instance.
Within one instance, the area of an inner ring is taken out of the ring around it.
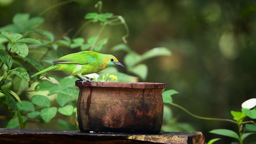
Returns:
[[[223,136],[228,136],[231,138],[235,138],[239,141],[238,142],[232,142],[232,144],[243,144],[244,139],[252,134],[256,134],[256,123],[253,121],[256,119],[256,98],[252,98],[250,100],[245,101],[242,104],[242,112],[235,112],[231,111],[231,114],[233,116],[234,120],[228,120],[228,119],[218,119],[218,118],[205,118],[205,117],[200,117],[196,116],[192,113],[190,113],[188,110],[183,108],[182,106],[179,106],[177,104],[172,103],[172,95],[177,94],[175,90],[167,90],[163,92],[163,100],[164,103],[166,104],[172,104],[173,106],[177,106],[178,108],[181,108],[191,116],[194,116],[196,118],[204,119],[204,120],[219,120],[219,121],[228,121],[237,124],[238,126],[238,134],[232,130],[227,130],[227,129],[216,129],[216,130],[211,130],[210,133],[214,134],[220,134]],[[253,108],[253,109],[251,109]],[[244,121],[246,117],[251,118],[251,121]],[[251,123],[251,124],[248,124]],[[243,127],[245,125],[245,127]],[[212,144],[216,142],[217,140],[220,140],[219,138],[215,138],[210,140],[207,144]]]

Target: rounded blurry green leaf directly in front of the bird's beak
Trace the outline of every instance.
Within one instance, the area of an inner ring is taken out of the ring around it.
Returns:
[[[125,66],[132,67],[135,64],[138,64],[141,61],[141,56],[136,52],[130,52],[124,56],[124,64]]]

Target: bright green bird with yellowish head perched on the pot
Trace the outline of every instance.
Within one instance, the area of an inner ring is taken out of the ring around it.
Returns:
[[[66,56],[62,56],[58,60],[54,60],[52,64],[52,66],[41,70],[31,77],[37,76],[49,70],[63,70],[69,75],[76,76],[78,79],[82,80],[82,83],[84,83],[86,81],[92,81],[88,80],[82,75],[100,72],[109,66],[118,65],[124,67],[124,65],[118,62],[117,58],[111,54],[100,54],[92,51],[82,51],[68,54]]]

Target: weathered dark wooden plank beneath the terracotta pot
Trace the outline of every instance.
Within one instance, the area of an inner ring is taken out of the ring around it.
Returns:
[[[204,135],[201,132],[114,134],[0,128],[0,144],[204,144]]]

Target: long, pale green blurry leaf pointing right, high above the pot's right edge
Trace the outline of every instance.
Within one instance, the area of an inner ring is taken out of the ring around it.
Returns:
[[[167,48],[153,48],[142,55],[142,60],[146,60],[156,56],[170,56],[171,54],[171,51]]]

